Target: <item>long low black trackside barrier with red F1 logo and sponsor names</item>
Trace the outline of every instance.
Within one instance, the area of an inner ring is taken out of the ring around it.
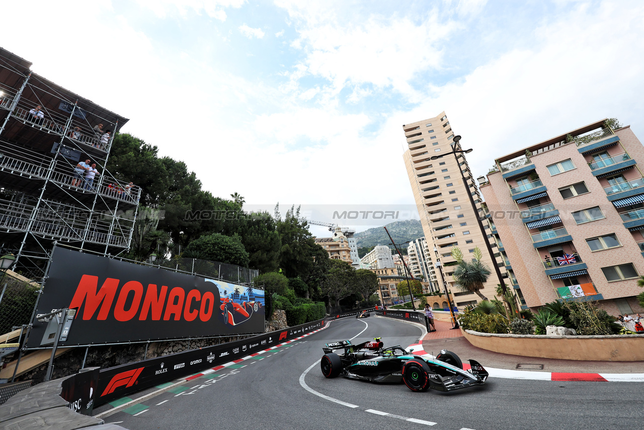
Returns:
[[[103,369],[100,371],[99,389],[95,395],[95,403],[97,405],[105,404],[142,389],[238,360],[322,328],[324,324],[325,320],[307,322],[301,326],[272,331],[265,335],[253,336],[236,342],[191,349],[182,353]]]

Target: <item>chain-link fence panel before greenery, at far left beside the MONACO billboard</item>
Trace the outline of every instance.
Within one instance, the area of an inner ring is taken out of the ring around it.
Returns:
[[[41,287],[10,274],[1,273],[0,278],[0,335],[3,335],[14,327],[29,324]]]

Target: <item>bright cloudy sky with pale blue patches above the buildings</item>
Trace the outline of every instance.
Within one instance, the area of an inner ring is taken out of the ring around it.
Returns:
[[[476,176],[604,117],[644,137],[638,0],[31,0],[3,16],[0,46],[248,206],[410,208],[401,125],[442,110]]]

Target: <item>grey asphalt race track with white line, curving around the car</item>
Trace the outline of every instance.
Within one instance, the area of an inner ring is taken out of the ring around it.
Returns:
[[[404,384],[330,380],[319,370],[327,342],[382,337],[385,346],[406,347],[423,333],[418,326],[386,318],[337,320],[299,342],[185,382],[104,420],[131,430],[622,430],[644,422],[637,382],[490,378],[485,386],[451,393],[413,393]]]

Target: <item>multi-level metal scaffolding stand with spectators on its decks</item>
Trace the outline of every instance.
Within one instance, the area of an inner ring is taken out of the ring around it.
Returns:
[[[105,170],[128,119],[31,66],[0,48],[0,253],[39,278],[53,242],[112,255],[128,249],[140,188]],[[91,182],[86,171],[75,174],[86,160],[99,172]]]

